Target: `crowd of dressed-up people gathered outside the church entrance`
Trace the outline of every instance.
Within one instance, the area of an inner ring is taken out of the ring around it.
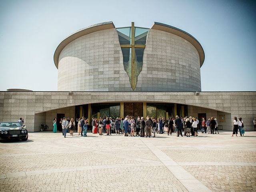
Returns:
[[[57,132],[56,118],[53,120],[53,132]],[[241,123],[241,124],[240,124]],[[77,130],[78,135],[87,136],[89,120],[85,117],[77,118],[62,118],[60,121],[62,127],[62,133],[66,138],[66,133],[69,132],[70,136],[74,135],[74,130]],[[234,130],[233,134],[240,132],[240,136],[244,135],[242,118],[234,118]],[[140,137],[156,137],[157,134],[163,134],[166,132],[168,135],[176,134],[179,136],[194,136],[198,137],[198,131],[201,130],[204,134],[219,134],[218,121],[214,117],[206,120],[198,120],[198,118],[190,117],[178,117],[169,118],[150,118],[149,116],[134,118],[133,116],[126,116],[125,118],[112,119],[111,117],[105,118],[92,118],[92,133],[110,136],[111,134],[124,134],[124,136],[140,136]],[[183,132],[183,134],[182,134]]]

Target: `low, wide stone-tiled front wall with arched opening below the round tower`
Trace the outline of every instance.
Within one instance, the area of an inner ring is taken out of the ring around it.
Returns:
[[[18,121],[22,117],[28,130],[36,131],[39,120],[47,116],[39,113],[101,102],[170,102],[198,106],[232,117],[241,116],[246,130],[254,130],[252,121],[256,118],[256,92],[200,92],[198,96],[194,92],[72,92],[72,95],[68,92],[0,92],[0,121]],[[231,130],[231,118],[229,120]]]

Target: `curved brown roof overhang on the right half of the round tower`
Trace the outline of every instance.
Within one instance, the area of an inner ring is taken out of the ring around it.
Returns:
[[[166,25],[163,23],[154,22],[152,29],[172,33],[172,34],[180,36],[180,37],[186,39],[188,42],[190,42],[198,51],[199,58],[200,58],[200,67],[202,67],[202,65],[204,63],[204,50],[203,50],[201,44],[198,42],[198,40],[196,40],[196,38],[194,38],[192,35],[190,35],[189,33],[185,32],[181,29],[178,29],[176,27]]]

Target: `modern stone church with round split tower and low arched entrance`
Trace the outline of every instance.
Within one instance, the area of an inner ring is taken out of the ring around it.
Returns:
[[[52,128],[57,117],[193,116],[217,118],[232,130],[234,116],[254,130],[256,92],[201,92],[201,44],[189,33],[154,22],[151,28],[95,24],[56,48],[58,91],[0,92],[0,121],[24,118],[29,131]]]

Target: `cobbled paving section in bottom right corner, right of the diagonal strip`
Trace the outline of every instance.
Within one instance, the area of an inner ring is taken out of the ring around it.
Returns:
[[[255,166],[183,166],[212,191],[256,191]]]

